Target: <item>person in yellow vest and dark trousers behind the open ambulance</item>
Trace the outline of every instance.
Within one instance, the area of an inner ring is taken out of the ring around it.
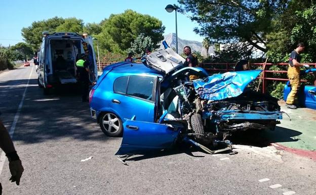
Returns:
[[[86,61],[87,55],[82,54],[80,59],[76,62],[77,66],[77,76],[78,80],[81,84],[81,100],[83,102],[89,101],[88,95],[89,95],[89,85],[90,85],[90,79],[89,79],[89,65]]]

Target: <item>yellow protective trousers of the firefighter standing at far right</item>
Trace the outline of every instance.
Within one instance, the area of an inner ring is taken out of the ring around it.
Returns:
[[[291,84],[291,92],[288,95],[287,104],[293,105],[297,101],[297,94],[300,88],[300,68],[297,66],[289,66],[288,78]]]

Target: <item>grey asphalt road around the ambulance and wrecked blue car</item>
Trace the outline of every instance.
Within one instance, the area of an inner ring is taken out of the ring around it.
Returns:
[[[235,155],[183,148],[123,165],[122,138],[101,132],[80,94],[44,96],[36,79],[32,65],[0,74],[0,117],[25,169],[17,186],[0,159],[3,194],[316,194],[315,161],[258,144],[259,134],[237,140]]]

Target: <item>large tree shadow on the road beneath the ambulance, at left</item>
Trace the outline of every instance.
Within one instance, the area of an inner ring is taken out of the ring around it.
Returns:
[[[27,80],[0,84],[0,87],[4,86],[0,88],[1,93],[6,93],[6,101],[0,104],[2,119],[9,128],[25,89],[25,86],[15,85],[23,83],[26,84]],[[36,143],[61,138],[97,141],[110,139],[102,133],[96,121],[91,119],[89,108],[89,102],[81,101],[78,87],[66,86],[45,96],[42,89],[38,88],[37,80],[32,79],[15,128],[14,140]]]

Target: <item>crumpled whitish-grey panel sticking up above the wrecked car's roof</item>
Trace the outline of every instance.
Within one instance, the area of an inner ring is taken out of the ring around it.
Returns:
[[[171,48],[152,52],[146,56],[145,66],[169,74],[183,66],[185,59],[173,51]]]

